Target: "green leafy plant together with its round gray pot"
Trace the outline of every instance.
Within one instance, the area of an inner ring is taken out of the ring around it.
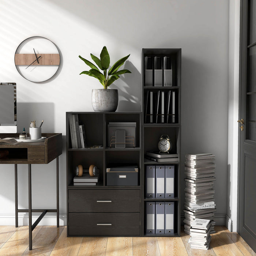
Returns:
[[[104,89],[93,89],[92,90],[92,105],[94,111],[116,111],[118,105],[118,90],[117,89],[108,89],[108,87],[118,78],[119,75],[125,73],[131,73],[128,69],[119,70],[121,65],[128,59],[130,56],[127,55],[120,60],[118,60],[110,69],[110,57],[106,46],[102,48],[100,59],[93,54],[91,54],[91,58],[95,62],[96,65],[91,63],[89,60],[84,59],[79,55],[79,58],[84,61],[86,65],[88,65],[91,69],[89,71],[83,71],[81,74],[86,74],[89,76],[93,76],[97,78],[99,82],[103,85]],[[103,71],[103,73],[100,71]]]

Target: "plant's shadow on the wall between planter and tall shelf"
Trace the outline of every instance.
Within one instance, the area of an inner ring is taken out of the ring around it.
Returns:
[[[140,72],[131,63],[131,61],[128,60],[125,62],[124,67],[121,67],[120,69],[128,69],[132,72],[132,74],[124,74],[120,76],[118,79],[121,80],[122,83],[120,87],[116,86],[115,84],[110,86],[110,89],[118,89],[117,111],[141,111]]]

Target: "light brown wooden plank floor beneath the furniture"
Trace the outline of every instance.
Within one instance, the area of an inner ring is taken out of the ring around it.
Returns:
[[[37,226],[33,231],[33,250],[29,251],[28,226],[0,226],[0,255],[50,256],[172,256],[172,255],[255,255],[237,234],[226,227],[215,227],[210,249],[190,249],[189,235],[181,237],[67,237],[67,227]]]

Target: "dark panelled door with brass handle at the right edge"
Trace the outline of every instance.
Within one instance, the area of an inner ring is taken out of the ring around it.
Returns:
[[[256,251],[256,0],[241,0],[239,234]]]

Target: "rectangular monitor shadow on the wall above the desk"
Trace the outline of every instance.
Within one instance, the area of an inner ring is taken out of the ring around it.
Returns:
[[[30,121],[36,121],[37,127],[44,120],[42,132],[54,132],[54,103],[52,102],[17,102],[17,132],[25,127],[29,132]]]

